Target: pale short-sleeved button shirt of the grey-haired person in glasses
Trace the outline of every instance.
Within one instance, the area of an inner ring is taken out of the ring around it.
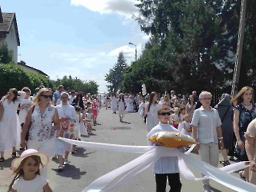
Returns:
[[[216,128],[221,126],[221,119],[216,109],[211,108],[211,111],[207,111],[201,106],[201,108],[194,111],[191,125],[198,127],[199,143],[218,144]]]

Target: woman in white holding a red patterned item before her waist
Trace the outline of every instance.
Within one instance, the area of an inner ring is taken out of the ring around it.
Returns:
[[[61,94],[62,104],[56,106],[58,111],[58,117],[60,121],[62,118],[66,120],[72,119],[76,122],[78,121],[78,115],[75,112],[75,108],[68,103],[68,93],[62,92]],[[56,140],[56,152],[55,154],[58,155],[58,170],[63,170],[63,164],[68,165],[68,155],[72,151],[72,144],[68,144],[64,141]],[[63,161],[63,155],[65,155],[65,159]]]

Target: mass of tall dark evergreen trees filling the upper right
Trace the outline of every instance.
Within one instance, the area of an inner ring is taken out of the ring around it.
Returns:
[[[248,0],[240,87],[255,81],[255,1]],[[124,74],[126,91],[180,93],[221,88],[233,78],[241,1],[141,0],[141,31],[151,34]]]

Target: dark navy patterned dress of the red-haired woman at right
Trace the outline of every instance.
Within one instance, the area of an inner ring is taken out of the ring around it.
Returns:
[[[243,104],[238,104],[234,107],[235,110],[238,110],[239,113],[239,135],[241,137],[241,141],[245,144],[245,137],[244,133],[247,131],[248,124],[251,123],[254,118],[256,118],[255,112],[255,104],[252,104],[252,109],[249,111],[248,109],[244,108]],[[245,150],[241,150],[238,147],[238,142],[235,144],[234,148],[234,156],[238,158],[240,161],[248,161],[248,157]]]

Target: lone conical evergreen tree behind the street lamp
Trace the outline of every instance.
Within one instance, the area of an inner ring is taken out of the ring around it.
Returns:
[[[120,52],[118,55],[118,61],[115,63],[114,67],[109,70],[109,73],[105,75],[105,81],[108,81],[109,83],[109,85],[107,85],[109,92],[116,92],[121,88],[125,68],[127,68],[126,58],[123,52]]]

